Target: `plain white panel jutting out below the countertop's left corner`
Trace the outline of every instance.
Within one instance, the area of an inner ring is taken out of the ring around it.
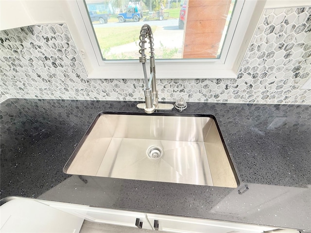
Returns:
[[[0,206],[1,233],[79,233],[83,221],[81,217],[26,198]]]

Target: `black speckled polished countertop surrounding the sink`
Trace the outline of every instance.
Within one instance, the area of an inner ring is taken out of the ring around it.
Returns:
[[[183,113],[216,117],[240,180],[238,188],[63,173],[99,112],[140,112],[136,103],[2,102],[1,199],[20,196],[311,230],[310,105],[188,103]]]

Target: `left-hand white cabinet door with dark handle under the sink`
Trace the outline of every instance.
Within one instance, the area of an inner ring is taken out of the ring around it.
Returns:
[[[152,230],[146,214],[132,211],[96,208],[85,205],[42,201],[53,208],[65,211],[75,216],[83,217],[91,222],[101,222],[119,226],[135,227]]]

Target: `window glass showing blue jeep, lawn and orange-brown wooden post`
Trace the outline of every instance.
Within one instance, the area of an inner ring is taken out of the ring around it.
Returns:
[[[138,59],[139,32],[152,27],[156,59],[215,59],[236,0],[86,0],[103,60]]]

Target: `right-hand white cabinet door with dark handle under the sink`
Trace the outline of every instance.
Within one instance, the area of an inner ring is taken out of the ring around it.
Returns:
[[[261,227],[257,225],[247,225],[208,219],[164,216],[147,214],[152,226],[159,231],[174,233],[262,233],[276,228]],[[155,221],[158,225],[154,226]]]

